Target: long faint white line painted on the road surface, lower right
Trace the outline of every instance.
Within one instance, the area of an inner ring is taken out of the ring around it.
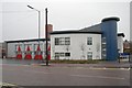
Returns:
[[[70,75],[70,76],[75,76],[75,77],[89,77],[89,78],[107,78],[107,79],[120,79],[123,80],[125,78],[120,78],[120,77],[108,77],[108,76],[88,76],[88,75]]]

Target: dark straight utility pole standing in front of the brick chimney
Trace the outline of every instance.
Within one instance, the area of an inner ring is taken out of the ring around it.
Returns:
[[[47,51],[47,46],[48,46],[48,43],[47,43],[47,8],[45,9],[45,29],[46,29],[46,66],[48,66],[48,51]]]

